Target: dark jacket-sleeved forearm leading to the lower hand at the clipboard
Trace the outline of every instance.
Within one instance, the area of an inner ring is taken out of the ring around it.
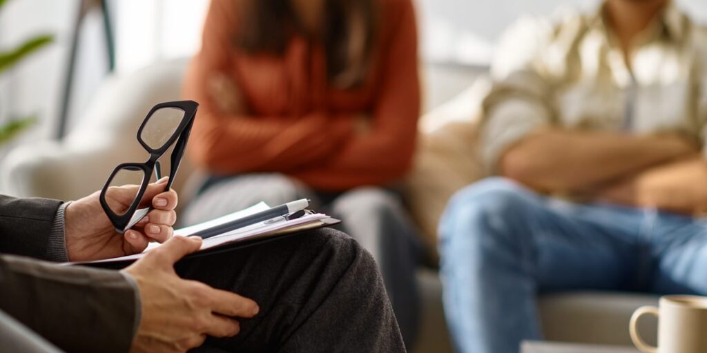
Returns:
[[[0,310],[66,352],[127,352],[139,321],[132,283],[116,271],[0,256]]]

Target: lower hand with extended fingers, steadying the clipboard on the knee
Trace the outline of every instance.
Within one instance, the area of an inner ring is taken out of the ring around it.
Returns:
[[[132,352],[186,352],[206,335],[238,334],[233,317],[257,315],[255,301],[177,276],[175,262],[200,247],[199,237],[174,237],[124,270],[137,282],[142,309]]]

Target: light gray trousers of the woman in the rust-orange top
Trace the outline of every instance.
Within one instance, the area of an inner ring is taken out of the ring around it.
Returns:
[[[185,224],[194,224],[260,201],[275,206],[300,198],[311,199],[312,209],[341,219],[340,229],[373,254],[403,340],[410,349],[419,324],[415,270],[421,246],[397,193],[378,187],[320,193],[281,174],[249,174],[207,186],[187,206],[181,219]]]

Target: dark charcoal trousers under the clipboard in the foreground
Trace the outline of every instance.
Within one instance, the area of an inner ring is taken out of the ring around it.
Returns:
[[[254,299],[241,331],[197,352],[405,352],[378,268],[346,234],[318,229],[177,263],[181,277]]]

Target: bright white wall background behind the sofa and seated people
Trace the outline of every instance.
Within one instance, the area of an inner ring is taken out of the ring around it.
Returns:
[[[590,6],[597,0],[414,0],[423,56],[439,64],[486,64],[493,42],[522,13],[551,13],[557,6]],[[707,0],[677,0],[707,23]],[[117,70],[134,71],[163,59],[190,56],[199,48],[209,0],[113,0]],[[59,114],[66,56],[78,0],[10,0],[0,11],[0,47],[38,32],[57,41],[12,73],[0,76],[0,121],[8,112],[40,114],[43,124],[24,140],[50,138]],[[80,75],[71,117],[90,101],[105,72],[100,18],[90,17],[81,37]],[[72,119],[71,124],[76,124]],[[0,157],[2,150],[0,148]]]

